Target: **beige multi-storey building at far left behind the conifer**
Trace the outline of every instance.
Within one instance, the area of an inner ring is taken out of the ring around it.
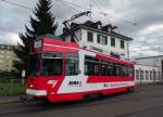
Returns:
[[[16,58],[14,46],[0,44],[0,72],[11,72],[13,61]]]

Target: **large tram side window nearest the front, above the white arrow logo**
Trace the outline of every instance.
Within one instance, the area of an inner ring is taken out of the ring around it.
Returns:
[[[42,75],[58,76],[62,74],[63,54],[60,52],[45,52],[42,56]]]

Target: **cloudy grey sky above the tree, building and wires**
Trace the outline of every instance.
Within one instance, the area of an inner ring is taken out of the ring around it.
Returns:
[[[37,0],[8,0],[34,9]],[[66,2],[67,1],[67,2]],[[76,6],[74,4],[77,4]],[[90,0],[52,0],[52,13],[59,23],[58,34],[61,32],[62,22],[75,13],[89,9]],[[92,0],[92,21],[102,21],[118,26],[118,32],[134,38],[130,43],[131,55],[163,54],[163,1],[161,0]],[[101,15],[99,12],[108,13]],[[24,31],[24,25],[29,22],[33,11],[22,9],[0,0],[0,44],[16,44],[18,32]],[[61,18],[62,17],[62,18]],[[64,20],[63,20],[64,17]],[[116,18],[115,18],[116,17]],[[83,17],[76,22],[84,22]],[[128,21],[137,23],[124,22]]]

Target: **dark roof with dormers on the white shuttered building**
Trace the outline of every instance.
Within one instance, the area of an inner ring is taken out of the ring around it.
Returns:
[[[66,29],[64,28],[63,29],[64,34],[62,36],[68,36],[73,31],[76,31],[76,30],[78,30],[80,28],[85,28],[85,29],[88,29],[88,30],[91,30],[91,31],[101,32],[101,34],[109,35],[109,36],[116,37],[116,38],[121,38],[121,39],[124,39],[124,40],[128,40],[128,41],[133,40],[133,38],[123,36],[123,35],[117,34],[115,31],[111,31],[110,32],[109,28],[111,28],[111,27],[112,27],[111,24],[102,26],[102,23],[100,21],[99,22],[87,21],[84,24],[72,23],[71,24],[71,30],[66,31]]]

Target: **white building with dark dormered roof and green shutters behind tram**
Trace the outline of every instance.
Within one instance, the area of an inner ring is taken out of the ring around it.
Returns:
[[[133,39],[113,31],[111,27],[111,25],[102,26],[101,22],[72,23],[71,31],[64,32],[64,40],[73,42],[74,38],[77,38],[80,44],[87,48],[103,51],[104,54],[117,53],[128,58],[129,41]]]

